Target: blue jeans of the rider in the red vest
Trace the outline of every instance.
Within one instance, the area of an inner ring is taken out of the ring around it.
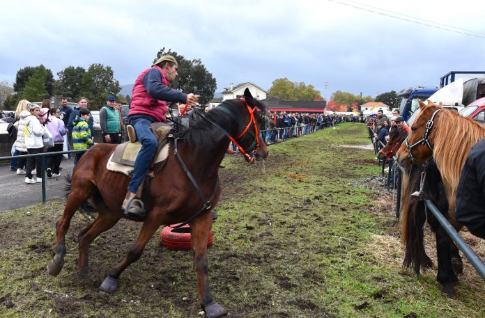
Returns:
[[[137,193],[141,182],[143,182],[158,148],[157,138],[150,131],[151,123],[150,120],[144,118],[130,120],[130,125],[133,126],[134,132],[137,133],[137,139],[141,143],[140,152],[138,152],[137,159],[134,161],[132,180],[128,184],[128,190],[134,193]]]

